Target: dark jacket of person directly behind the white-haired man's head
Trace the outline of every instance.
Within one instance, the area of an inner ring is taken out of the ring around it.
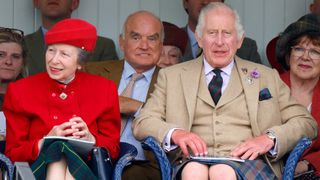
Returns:
[[[187,26],[183,27],[182,29],[187,32]],[[192,57],[192,48],[189,42],[190,41],[188,39],[187,47],[182,57],[182,61],[189,61],[191,59],[194,59]],[[260,55],[258,53],[257,43],[253,39],[245,37],[236,55],[242,59],[262,64]]]

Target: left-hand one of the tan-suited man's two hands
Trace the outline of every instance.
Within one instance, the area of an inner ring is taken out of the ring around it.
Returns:
[[[186,157],[189,156],[188,149],[191,149],[192,153],[196,156],[208,154],[206,143],[195,133],[176,129],[173,131],[171,139],[181,148]]]

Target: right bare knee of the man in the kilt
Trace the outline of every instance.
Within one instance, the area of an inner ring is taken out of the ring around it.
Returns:
[[[226,179],[226,180],[236,180],[236,172],[231,166],[226,164],[217,164],[209,168],[210,179]]]

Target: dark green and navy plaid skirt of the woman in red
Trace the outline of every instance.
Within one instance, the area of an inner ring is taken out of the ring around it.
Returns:
[[[82,158],[65,141],[43,145],[38,159],[31,166],[36,179],[46,179],[47,165],[59,161],[62,156],[65,156],[68,169],[75,179],[97,179]]]

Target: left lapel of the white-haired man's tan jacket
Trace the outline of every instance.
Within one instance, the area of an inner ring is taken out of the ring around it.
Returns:
[[[184,67],[184,71],[180,74],[189,120],[193,120],[194,117],[202,66],[202,56],[200,56],[193,63],[189,63],[189,66]]]

